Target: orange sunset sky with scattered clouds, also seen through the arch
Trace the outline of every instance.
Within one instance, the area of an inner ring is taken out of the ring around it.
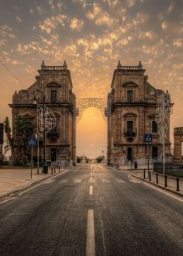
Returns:
[[[1,0],[0,122],[11,118],[12,93],[35,81],[41,61],[71,71],[77,98],[103,98],[117,62],[142,61],[149,82],[168,90],[174,126],[183,126],[182,0]],[[87,109],[77,126],[78,154],[106,152],[106,124],[98,109]]]

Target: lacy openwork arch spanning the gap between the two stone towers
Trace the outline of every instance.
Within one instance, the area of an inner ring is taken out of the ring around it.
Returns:
[[[106,116],[105,116],[106,102],[107,102],[106,99],[96,99],[96,98],[76,99],[76,107],[78,109],[77,123],[81,119],[82,113],[85,111],[85,109],[88,109],[91,107],[99,109],[102,112],[102,116],[106,122]]]

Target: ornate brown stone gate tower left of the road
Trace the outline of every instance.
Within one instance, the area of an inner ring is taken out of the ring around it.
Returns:
[[[75,126],[76,109],[75,95],[72,92],[71,73],[67,69],[66,61],[63,66],[46,66],[44,61],[41,69],[38,70],[36,81],[26,90],[15,92],[12,96],[12,137],[16,141],[16,116],[25,116],[31,120],[36,127],[37,109],[33,104],[34,99],[38,104],[43,104],[50,108],[57,119],[57,126],[50,130],[46,136],[46,159],[55,161],[72,160],[75,164]],[[36,128],[35,128],[36,133]],[[40,138],[40,155],[43,158],[43,137]],[[16,157],[16,148],[12,152]],[[36,147],[33,148],[36,155]]]

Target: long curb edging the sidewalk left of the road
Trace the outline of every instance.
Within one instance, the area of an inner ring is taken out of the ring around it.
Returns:
[[[63,171],[66,171],[66,170],[67,170],[67,169],[64,169]],[[50,176],[45,177],[45,178],[41,179],[40,181],[33,182],[31,185],[28,185],[28,186],[26,186],[26,187],[24,187],[24,188],[22,188],[22,189],[16,189],[16,190],[13,190],[12,192],[9,192],[9,193],[7,193],[7,194],[5,194],[5,195],[0,195],[0,202],[2,202],[3,199],[13,197],[14,195],[16,195],[16,194],[19,193],[19,192],[23,192],[23,191],[25,191],[26,189],[30,189],[30,188],[33,187],[34,185],[37,185],[37,184],[39,184],[39,183],[41,183],[41,182],[47,180],[47,179],[50,178],[50,177],[57,176],[58,174],[62,173],[63,171],[58,171],[58,172],[56,172],[56,173],[50,174]]]

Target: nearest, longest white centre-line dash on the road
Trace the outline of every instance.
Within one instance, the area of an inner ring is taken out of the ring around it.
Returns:
[[[95,227],[93,209],[88,209],[86,256],[95,256]]]

